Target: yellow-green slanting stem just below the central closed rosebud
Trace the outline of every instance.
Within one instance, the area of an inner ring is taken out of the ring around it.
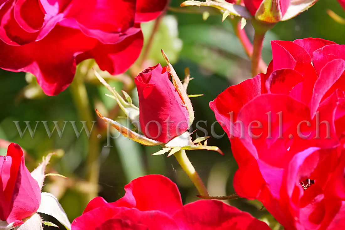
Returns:
[[[180,151],[176,152],[174,156],[176,157],[176,160],[178,161],[178,163],[181,165],[183,171],[187,173],[190,180],[193,182],[196,189],[200,193],[200,195],[208,197],[209,195],[208,195],[206,186],[201,180],[199,174],[195,171],[192,163],[189,161],[186,155],[186,151],[181,149]]]

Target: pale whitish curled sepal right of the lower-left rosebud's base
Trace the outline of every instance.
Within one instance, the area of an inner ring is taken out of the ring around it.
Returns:
[[[71,223],[69,222],[67,215],[61,207],[58,199],[48,192],[42,192],[41,204],[37,212],[51,215],[57,219],[67,230],[71,229]]]

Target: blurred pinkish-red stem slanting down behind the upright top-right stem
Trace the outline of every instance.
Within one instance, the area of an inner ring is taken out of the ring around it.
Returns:
[[[231,24],[233,25],[235,35],[238,37],[240,43],[242,44],[244,51],[246,52],[248,57],[252,59],[253,45],[250,42],[246,31],[244,29],[241,29],[241,23],[239,22],[239,18],[238,17],[234,19],[231,19],[230,17],[228,18],[230,19]],[[266,73],[267,65],[262,58],[260,58],[259,68],[262,73]]]

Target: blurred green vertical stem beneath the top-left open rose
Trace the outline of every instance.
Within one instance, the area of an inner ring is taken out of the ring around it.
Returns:
[[[83,75],[81,74],[81,68],[83,66],[78,65],[76,76],[70,85],[72,98],[77,107],[79,117],[82,121],[89,123],[88,128],[91,128],[92,114],[89,105],[89,97],[87,95]],[[89,138],[89,151],[87,155],[87,175],[86,179],[90,183],[90,187],[87,191],[86,204],[97,197],[98,195],[98,178],[99,178],[99,139],[97,138],[97,126],[93,126],[93,130],[90,133]]]

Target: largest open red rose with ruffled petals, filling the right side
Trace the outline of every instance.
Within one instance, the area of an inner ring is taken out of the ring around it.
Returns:
[[[210,102],[239,166],[235,190],[285,229],[343,229],[345,46],[307,38],[272,52],[267,74]]]

